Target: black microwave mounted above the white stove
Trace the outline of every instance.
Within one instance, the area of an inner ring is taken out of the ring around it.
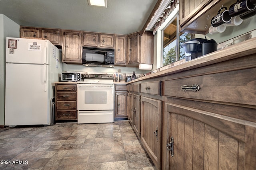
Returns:
[[[85,66],[114,67],[114,49],[83,47],[82,64]]]

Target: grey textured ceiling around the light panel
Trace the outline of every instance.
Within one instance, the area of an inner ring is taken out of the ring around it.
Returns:
[[[0,14],[19,25],[129,34],[140,31],[157,0],[0,0]]]

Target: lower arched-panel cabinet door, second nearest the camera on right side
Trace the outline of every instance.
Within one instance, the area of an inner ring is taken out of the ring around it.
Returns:
[[[161,169],[162,101],[141,96],[141,142],[150,158]]]

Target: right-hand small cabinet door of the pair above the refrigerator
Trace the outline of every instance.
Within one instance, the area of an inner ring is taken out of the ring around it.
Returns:
[[[60,44],[61,30],[59,29],[42,29],[42,39],[48,39],[54,45]]]

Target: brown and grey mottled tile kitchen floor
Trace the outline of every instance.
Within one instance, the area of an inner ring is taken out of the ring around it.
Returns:
[[[0,161],[1,170],[155,169],[128,121],[6,127]]]

